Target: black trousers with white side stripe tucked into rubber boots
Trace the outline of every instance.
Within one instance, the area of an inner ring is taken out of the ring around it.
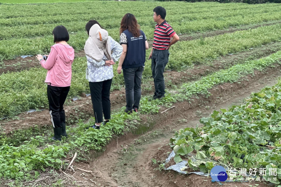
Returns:
[[[61,127],[61,122],[65,122],[64,102],[69,88],[70,86],[47,86],[49,113],[51,115],[51,121],[54,128]]]

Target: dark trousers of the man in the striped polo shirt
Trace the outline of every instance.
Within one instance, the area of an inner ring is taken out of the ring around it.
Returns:
[[[165,95],[165,81],[164,81],[164,69],[168,63],[169,50],[155,50],[153,49],[151,57],[151,70],[152,77],[154,79],[155,96]]]

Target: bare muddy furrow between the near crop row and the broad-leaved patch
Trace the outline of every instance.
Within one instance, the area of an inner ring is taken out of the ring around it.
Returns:
[[[210,177],[163,171],[159,164],[163,163],[172,151],[169,147],[169,139],[176,130],[200,125],[199,119],[207,117],[213,110],[238,105],[252,92],[276,84],[280,72],[279,67],[268,69],[263,73],[255,72],[254,76],[247,76],[239,84],[225,83],[213,88],[210,90],[212,96],[208,99],[201,97],[192,103],[175,103],[175,108],[151,117],[157,123],[149,133],[140,135],[131,133],[115,137],[106,146],[104,152],[93,152],[89,162],[74,162],[74,172],[72,169],[42,172],[40,179],[28,182],[26,185],[52,186],[54,181],[59,180],[59,184],[56,183],[55,186],[221,186],[217,182],[211,182]],[[90,108],[90,103],[88,105]],[[71,159],[70,155],[67,162]],[[153,164],[152,159],[156,159],[158,164]],[[78,168],[92,173],[81,172]],[[2,183],[2,186],[6,186],[5,183],[8,181]],[[231,187],[255,184],[262,187],[270,186],[263,182],[225,183]]]

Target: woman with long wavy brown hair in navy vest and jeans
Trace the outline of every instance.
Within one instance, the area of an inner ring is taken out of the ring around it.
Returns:
[[[121,20],[120,44],[123,52],[119,59],[117,72],[123,69],[126,87],[126,110],[138,112],[141,96],[141,77],[144,69],[145,50],[148,49],[146,36],[133,14],[127,13]]]

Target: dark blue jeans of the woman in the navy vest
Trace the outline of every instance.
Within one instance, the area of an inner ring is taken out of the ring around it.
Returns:
[[[126,90],[126,110],[138,109],[140,105],[143,69],[143,66],[123,69]]]

